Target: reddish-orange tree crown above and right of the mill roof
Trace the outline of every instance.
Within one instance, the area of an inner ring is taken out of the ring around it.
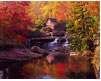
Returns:
[[[56,13],[56,18],[58,21],[63,21],[71,18],[72,12],[74,8],[72,5],[72,2],[59,2],[59,5],[57,6],[57,13]]]

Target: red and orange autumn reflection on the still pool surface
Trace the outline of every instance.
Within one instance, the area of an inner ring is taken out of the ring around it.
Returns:
[[[54,56],[55,63],[49,64],[46,58],[34,60],[28,63],[24,63],[18,69],[19,75],[24,79],[76,79],[76,78],[91,78],[89,63],[83,57],[69,57],[57,58]],[[64,60],[65,59],[65,60]],[[18,66],[19,67],[19,66]],[[16,67],[17,68],[17,67]],[[15,69],[16,69],[15,68]],[[14,68],[13,68],[14,69]],[[10,76],[14,76],[15,73]],[[16,78],[19,78],[19,77]]]

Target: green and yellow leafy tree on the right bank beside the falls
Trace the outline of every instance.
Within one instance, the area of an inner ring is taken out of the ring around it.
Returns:
[[[92,51],[93,41],[98,36],[99,23],[97,16],[89,16],[88,11],[79,5],[73,12],[75,17],[67,21],[66,34],[69,34],[70,48],[82,52],[89,49]]]

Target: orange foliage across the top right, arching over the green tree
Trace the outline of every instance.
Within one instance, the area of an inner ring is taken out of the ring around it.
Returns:
[[[61,21],[75,17],[73,12],[77,7],[83,7],[83,9],[87,10],[91,16],[99,15],[99,1],[62,1],[59,2],[59,5],[57,6],[57,20]]]

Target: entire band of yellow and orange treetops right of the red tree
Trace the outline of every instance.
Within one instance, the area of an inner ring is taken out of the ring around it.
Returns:
[[[31,2],[29,11],[33,21],[41,16],[43,20],[48,17],[57,18],[58,21],[72,19],[75,17],[73,12],[75,9],[83,7],[89,11],[90,15],[98,15],[99,2],[98,1],[47,1],[47,2]]]

